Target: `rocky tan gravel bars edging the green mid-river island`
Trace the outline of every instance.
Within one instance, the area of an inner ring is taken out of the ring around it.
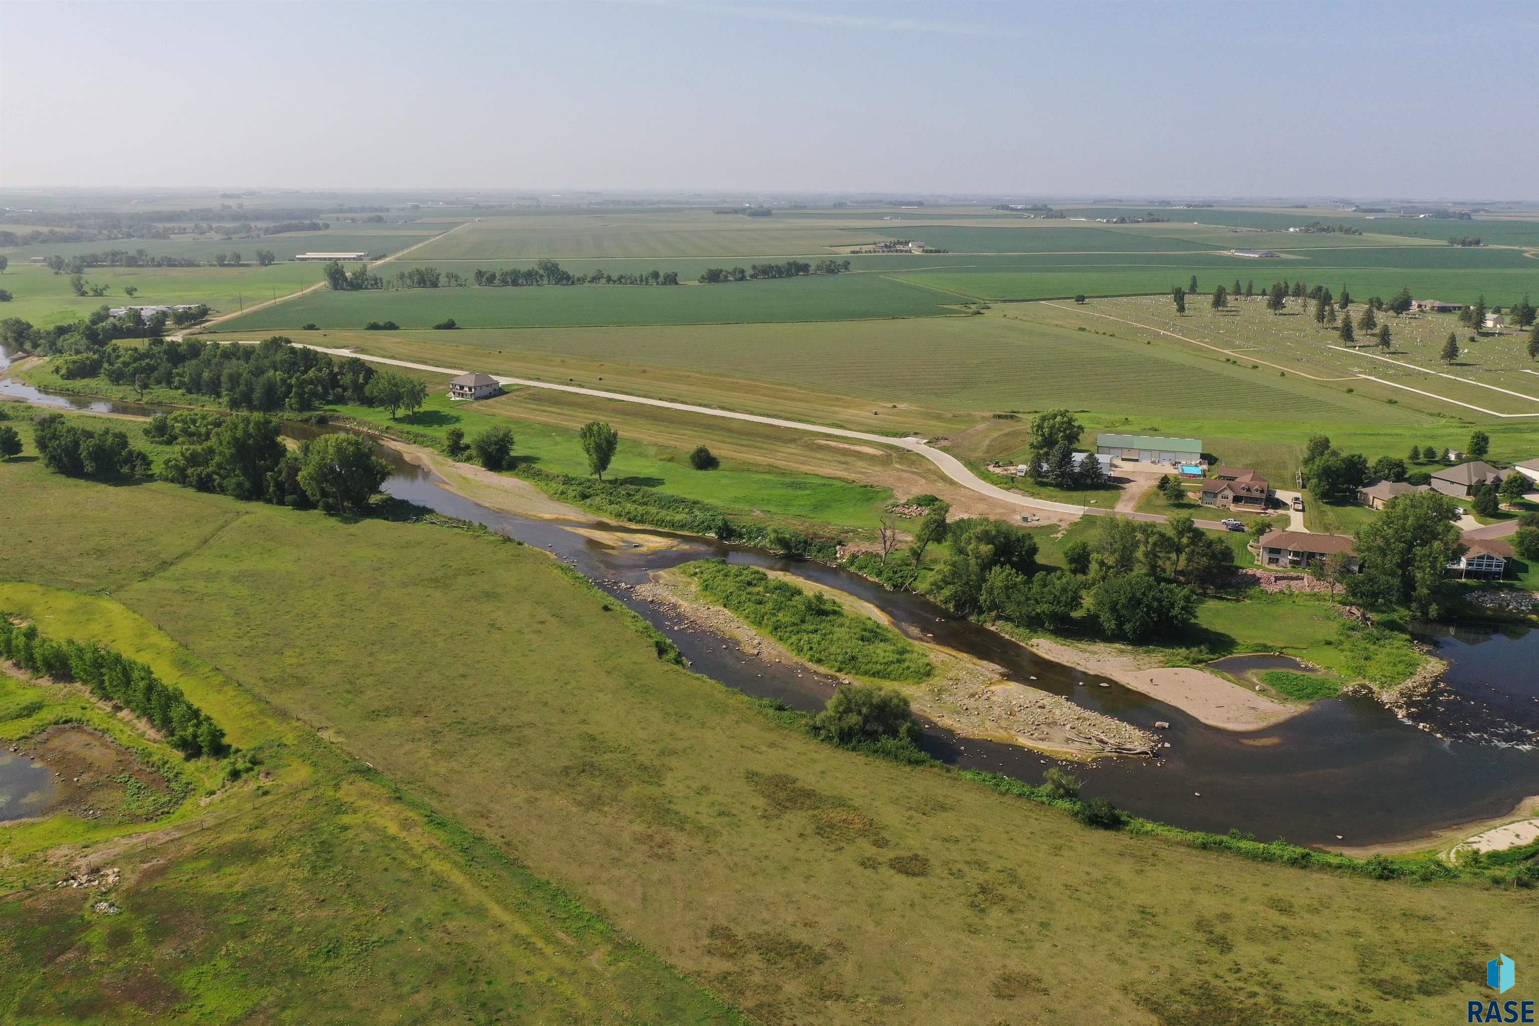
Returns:
[[[786,578],[794,580],[799,588],[817,588],[800,578]],[[870,603],[837,589],[817,591],[828,594],[851,614],[891,625]],[[693,581],[677,571],[653,574],[653,581],[637,586],[634,594],[671,608],[691,625],[737,641],[754,658],[806,666],[817,674],[828,672],[759,634],[726,609],[700,600]],[[1020,745],[1070,758],[1148,755],[1157,746],[1153,734],[1133,725],[1082,709],[1047,691],[1003,680],[1000,668],[993,663],[922,638],[910,640],[925,651],[936,674],[922,685],[903,685],[899,689],[910,697],[916,712],[963,737]],[[850,678],[842,678],[842,683],[850,683]]]

